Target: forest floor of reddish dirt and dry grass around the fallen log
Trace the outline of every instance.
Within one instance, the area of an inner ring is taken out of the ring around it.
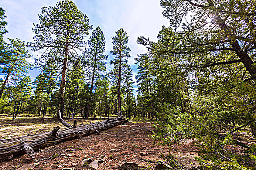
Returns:
[[[100,120],[76,119],[78,124]],[[68,122],[72,122],[69,119]],[[14,121],[8,116],[0,119],[0,139],[26,136],[50,131],[60,125],[58,119],[18,117]],[[64,128],[63,126],[61,126]],[[139,170],[153,170],[163,155],[168,155],[167,148],[153,145],[149,138],[154,128],[152,122],[129,122],[111,129],[92,134],[79,139],[59,143],[55,146],[42,148],[36,151],[36,159],[28,155],[14,157],[12,160],[1,161],[0,170],[91,170],[83,166],[82,160],[105,155],[106,160],[99,164],[97,170],[118,170],[123,163],[138,164]],[[196,169],[199,165],[195,161],[197,148],[191,142],[173,146],[171,153],[177,157],[187,170]],[[145,155],[144,155],[145,154]]]

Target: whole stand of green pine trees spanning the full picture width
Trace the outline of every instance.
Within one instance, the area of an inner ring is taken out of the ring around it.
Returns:
[[[1,8],[1,114],[154,119],[156,143],[171,149],[194,140],[205,169],[256,168],[256,1],[160,3],[170,26],[162,27],[157,42],[138,37],[148,52],[136,58],[137,96],[124,29],[112,38],[115,58],[106,72],[103,31],[93,30],[71,0],[42,8],[29,43],[3,41],[7,23]],[[44,53],[29,63],[27,48]],[[41,73],[32,82],[33,68]],[[182,169],[174,156],[165,158]]]

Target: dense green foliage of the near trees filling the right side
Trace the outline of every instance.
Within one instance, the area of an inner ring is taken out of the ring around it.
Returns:
[[[157,113],[152,137],[194,141],[206,169],[255,169],[254,3],[161,0],[170,27],[158,42],[138,37],[149,51],[138,58],[138,106]]]

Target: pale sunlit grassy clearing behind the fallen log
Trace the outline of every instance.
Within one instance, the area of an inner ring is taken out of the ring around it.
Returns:
[[[115,118],[115,115],[111,115],[111,118]],[[108,119],[108,117],[90,117],[89,120],[82,119],[82,117],[76,117],[78,124],[89,124],[97,121]],[[68,123],[73,124],[74,119],[65,119]],[[130,119],[130,122],[152,122],[146,119]],[[52,118],[50,116],[35,115],[18,115],[16,119],[12,121],[12,115],[0,115],[0,139],[9,139],[13,137],[27,136],[28,134],[38,134],[48,132],[56,126],[65,128],[58,120],[58,118]]]

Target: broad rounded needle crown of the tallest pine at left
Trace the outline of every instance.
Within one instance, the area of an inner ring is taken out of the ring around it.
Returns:
[[[65,51],[84,45],[84,36],[89,34],[91,26],[88,17],[78,10],[72,0],[58,1],[56,6],[43,7],[39,15],[39,24],[34,24],[35,33],[31,43],[33,50]]]

